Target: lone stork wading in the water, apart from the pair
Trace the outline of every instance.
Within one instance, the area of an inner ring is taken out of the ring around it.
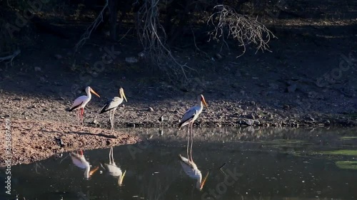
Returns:
[[[203,110],[203,105],[206,106],[207,110],[208,109],[208,105],[206,103],[206,100],[204,100],[203,95],[198,95],[197,97],[198,100],[198,104],[196,106],[191,107],[190,109],[188,109],[185,114],[183,115],[180,124],[178,125],[178,130],[181,129],[181,127],[184,127],[186,125],[188,125],[187,127],[187,138],[193,137],[193,133],[192,133],[192,128],[193,128],[193,122],[195,122],[195,120],[198,118],[198,115],[201,114],[202,110]],[[192,157],[192,143],[191,142],[191,157]],[[187,139],[187,146],[189,145],[188,139]],[[187,147],[187,155],[188,155],[188,147]]]

